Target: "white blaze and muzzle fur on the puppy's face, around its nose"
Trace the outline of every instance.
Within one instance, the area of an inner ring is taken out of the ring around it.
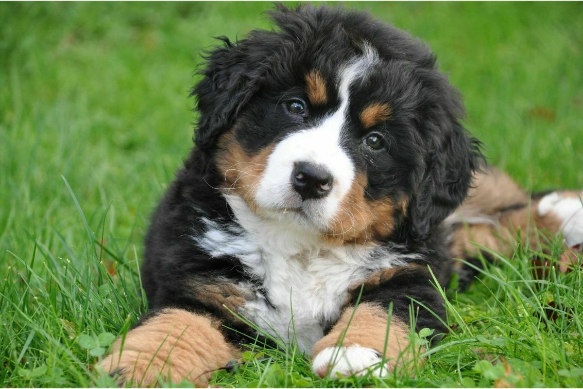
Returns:
[[[291,133],[273,149],[255,192],[259,209],[276,212],[301,209],[317,227],[325,229],[354,180],[354,164],[341,147],[350,104],[349,87],[377,61],[377,53],[366,45],[364,55],[347,64],[339,74],[338,110],[314,128]],[[302,201],[291,183],[297,162],[321,165],[332,174],[332,190],[326,197]]]

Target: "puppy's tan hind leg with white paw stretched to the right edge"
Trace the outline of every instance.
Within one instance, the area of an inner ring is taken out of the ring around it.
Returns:
[[[490,260],[489,251],[510,257],[518,240],[538,249],[541,236],[553,239],[559,233],[565,238],[566,250],[571,250],[583,243],[580,197],[583,192],[554,191],[531,198],[506,174],[488,168],[477,174],[466,201],[446,220],[454,226],[450,237],[452,257],[480,267],[479,257]],[[475,268],[459,261],[454,268],[460,275],[460,289],[465,289],[477,274]]]

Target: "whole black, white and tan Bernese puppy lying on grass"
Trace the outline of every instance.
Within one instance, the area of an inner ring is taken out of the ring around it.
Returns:
[[[412,358],[411,317],[447,333],[433,282],[473,278],[452,261],[470,242],[583,241],[581,192],[531,198],[485,166],[426,45],[363,12],[271,16],[220,38],[192,91],[195,146],[146,237],[150,311],[101,362],[121,381],[204,384],[254,327],[319,376],[387,374]]]

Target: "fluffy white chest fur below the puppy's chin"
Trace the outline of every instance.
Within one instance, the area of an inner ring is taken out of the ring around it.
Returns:
[[[266,296],[258,292],[240,313],[284,342],[296,339],[307,352],[338,319],[349,286],[412,257],[372,244],[326,247],[288,215],[265,219],[240,197],[226,198],[240,227],[205,219],[208,230],[193,238],[213,257],[237,257],[262,285]]]

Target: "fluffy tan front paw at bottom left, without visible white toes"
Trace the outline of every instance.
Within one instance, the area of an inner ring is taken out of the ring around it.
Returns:
[[[212,373],[236,358],[237,350],[218,329],[219,323],[184,310],[167,309],[118,339],[100,362],[108,373],[118,373],[124,383],[153,386],[158,377],[180,383],[204,385]]]

